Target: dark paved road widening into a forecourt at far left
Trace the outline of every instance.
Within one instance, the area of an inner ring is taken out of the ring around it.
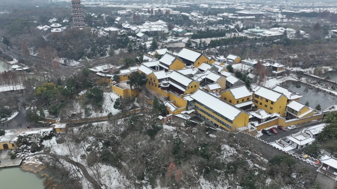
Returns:
[[[26,100],[25,96],[19,96],[18,104],[21,106],[21,102]],[[7,126],[8,125],[8,126]],[[21,125],[21,126],[20,126]],[[17,128],[27,128],[27,125],[30,125],[31,128],[42,128],[42,124],[33,124],[26,119],[26,109],[21,107],[19,114],[13,119],[4,123],[4,126],[0,125],[0,129],[17,129]]]

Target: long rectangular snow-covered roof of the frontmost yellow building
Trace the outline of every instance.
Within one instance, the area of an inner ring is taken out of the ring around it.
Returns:
[[[190,96],[194,100],[207,106],[207,108],[214,110],[215,112],[232,121],[242,112],[242,110],[236,108],[232,104],[229,104],[221,100],[220,98],[217,98],[205,91],[202,91],[201,89],[198,89],[194,94]]]

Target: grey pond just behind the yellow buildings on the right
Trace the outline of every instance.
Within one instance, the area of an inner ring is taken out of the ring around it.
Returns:
[[[322,110],[324,110],[332,105],[337,105],[336,95],[322,92],[321,90],[313,88],[305,83],[286,81],[282,83],[282,86],[303,95],[303,97],[300,98],[300,102],[305,103],[308,101],[311,108],[315,108],[316,105],[319,104],[321,105]]]

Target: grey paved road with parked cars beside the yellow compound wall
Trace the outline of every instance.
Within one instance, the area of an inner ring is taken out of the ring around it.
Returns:
[[[321,122],[316,122],[316,123],[311,123],[311,124],[307,124],[305,126],[297,126],[296,128],[294,129],[291,129],[291,130],[286,130],[286,131],[282,131],[280,130],[279,128],[277,128],[276,126],[273,127],[277,130],[277,134],[274,134],[274,133],[271,133],[270,136],[268,136],[267,134],[263,134],[262,136],[260,136],[259,138],[261,140],[264,140],[268,143],[270,142],[275,142],[276,140],[279,140],[279,139],[285,139],[286,136],[290,136],[292,134],[295,134],[297,132],[300,132],[303,130],[303,128],[306,128],[306,127],[309,127],[309,126],[316,126],[316,125],[319,125],[321,124]]]

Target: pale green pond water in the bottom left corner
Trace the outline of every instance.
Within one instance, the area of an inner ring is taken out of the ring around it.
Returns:
[[[0,189],[43,189],[43,178],[20,167],[0,168]]]

